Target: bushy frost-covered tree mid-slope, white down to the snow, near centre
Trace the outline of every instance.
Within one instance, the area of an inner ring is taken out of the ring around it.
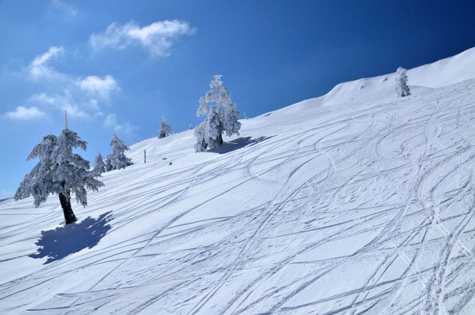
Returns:
[[[195,128],[196,152],[208,148],[216,148],[223,144],[223,133],[228,136],[238,134],[241,123],[238,121],[239,111],[231,94],[223,87],[221,75],[215,75],[205,96],[199,99],[196,116],[206,116],[203,123]]]

